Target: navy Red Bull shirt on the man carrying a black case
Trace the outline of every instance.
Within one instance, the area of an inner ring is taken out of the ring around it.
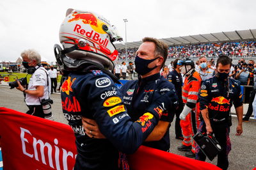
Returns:
[[[225,120],[230,108],[243,105],[240,82],[234,79],[220,81],[214,76],[202,82],[199,95],[200,111],[208,109],[210,120]]]

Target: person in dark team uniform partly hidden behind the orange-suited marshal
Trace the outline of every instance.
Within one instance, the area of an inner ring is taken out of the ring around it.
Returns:
[[[180,118],[179,118],[180,113],[182,112],[184,107],[184,104],[182,101],[182,76],[180,73],[180,66],[181,66],[181,63],[179,63],[179,58],[175,59],[173,61],[173,70],[167,75],[167,79],[168,81],[172,82],[173,85],[175,86],[175,90],[179,98],[179,108],[175,111],[175,115],[176,115],[176,120],[175,120],[176,137],[175,138],[183,140],[181,127],[180,127]]]

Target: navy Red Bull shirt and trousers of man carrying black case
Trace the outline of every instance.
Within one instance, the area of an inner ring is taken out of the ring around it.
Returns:
[[[221,145],[221,152],[218,153],[218,167],[227,169],[228,153],[231,150],[229,138],[231,116],[230,108],[243,105],[240,82],[234,79],[221,81],[214,76],[202,82],[199,94],[200,111],[208,109],[212,133]],[[199,127],[200,132],[206,132],[205,123],[202,119]],[[205,160],[205,155],[196,146],[196,159]]]

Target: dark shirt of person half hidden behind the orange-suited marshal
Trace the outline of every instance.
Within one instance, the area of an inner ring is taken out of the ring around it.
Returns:
[[[175,90],[177,93],[177,96],[179,98],[179,104],[183,104],[182,101],[182,75],[178,73],[176,70],[173,70],[167,75],[167,80],[172,82],[172,84],[175,86]]]

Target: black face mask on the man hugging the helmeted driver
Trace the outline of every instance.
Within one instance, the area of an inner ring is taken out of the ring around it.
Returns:
[[[157,58],[142,59],[137,55],[136,58],[135,58],[135,61],[134,61],[134,63],[135,63],[135,72],[137,72],[140,75],[145,75],[146,73],[151,72],[152,70],[157,68],[157,66],[154,66],[153,68],[148,68],[148,65],[156,59]]]

